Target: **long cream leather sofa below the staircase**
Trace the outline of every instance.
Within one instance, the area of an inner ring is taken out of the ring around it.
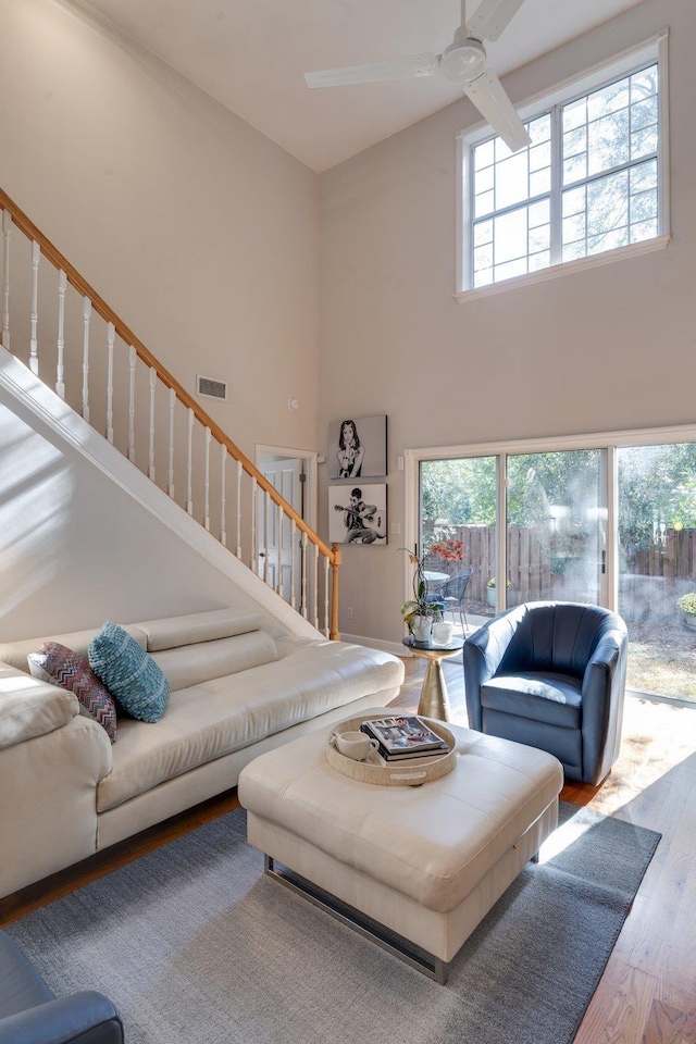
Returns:
[[[51,639],[0,645],[0,896],[233,787],[259,754],[388,703],[401,660],[343,642],[273,637],[227,609],[128,624],[171,684],[154,724],[119,718],[115,743],[76,697],[32,678]]]

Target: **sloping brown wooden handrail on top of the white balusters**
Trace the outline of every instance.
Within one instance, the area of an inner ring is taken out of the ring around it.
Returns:
[[[135,348],[138,358],[147,366],[151,366],[157,371],[157,374],[160,381],[162,381],[162,383],[165,384],[167,388],[171,388],[175,393],[176,398],[179,400],[179,402],[182,402],[187,409],[192,410],[197,420],[204,427],[210,428],[212,435],[214,435],[217,442],[227,448],[228,452],[235,458],[235,460],[238,460],[241,463],[241,467],[247,472],[247,474],[250,475],[252,478],[256,478],[259,486],[264,490],[264,493],[266,493],[271,497],[273,502],[277,507],[283,508],[283,511],[288,515],[289,519],[291,519],[296,523],[298,529],[302,533],[307,534],[308,539],[312,544],[314,544],[319,548],[319,550],[322,552],[322,555],[324,555],[331,562],[332,568],[334,570],[334,579],[335,579],[336,570],[338,568],[338,564],[340,563],[340,550],[338,551],[334,550],[336,545],[334,545],[333,547],[330,547],[328,544],[325,544],[324,540],[322,540],[321,537],[319,537],[316,533],[314,533],[314,531],[307,524],[304,519],[302,519],[297,513],[295,508],[290,504],[288,504],[288,501],[277,492],[277,489],[274,486],[271,485],[268,478],[265,478],[261,474],[259,469],[249,460],[249,458],[245,453],[243,453],[239,447],[233,443],[233,440],[225,434],[225,432],[223,432],[220,425],[216,424],[215,421],[213,421],[213,419],[209,417],[203,409],[201,409],[201,407],[198,405],[196,399],[194,399],[194,397],[189,395],[186,388],[184,388],[178,383],[176,377],[172,376],[172,374],[169,372],[169,370],[166,370],[162,365],[159,359],[157,359],[152,355],[152,352],[148,348],[146,348],[142,341],[138,337],[136,337],[133,331],[128,326],[126,326],[126,324],[116,315],[113,309],[111,309],[107,304],[107,302],[99,296],[99,294],[97,294],[97,291],[89,285],[89,283],[87,283],[87,281],[82,277],[79,272],[75,268],[73,268],[70,261],[67,261],[67,259],[63,257],[60,250],[53,246],[50,239],[47,239],[44,233],[36,227],[34,222],[29,217],[27,217],[24,211],[22,211],[17,207],[17,204],[14,202],[14,200],[12,200],[7,195],[7,192],[4,192],[1,188],[0,188],[0,208],[2,210],[8,210],[10,212],[10,214],[12,215],[12,221],[17,226],[17,228],[20,228],[25,234],[25,236],[27,236],[29,239],[33,239],[36,243],[38,243],[39,247],[41,248],[42,256],[45,258],[48,258],[48,260],[51,262],[51,264],[55,269],[62,270],[65,273],[67,277],[67,282],[71,283],[72,286],[74,286],[75,289],[83,297],[89,298],[95,311],[97,311],[101,315],[101,318],[105,320],[105,322],[113,323],[114,328],[119,334],[119,336],[121,337],[121,339],[124,340],[127,345],[132,345]],[[336,602],[336,599],[334,598],[333,601]],[[337,613],[338,611],[337,606],[335,611]],[[337,630],[337,621],[336,623],[332,621],[332,630]]]

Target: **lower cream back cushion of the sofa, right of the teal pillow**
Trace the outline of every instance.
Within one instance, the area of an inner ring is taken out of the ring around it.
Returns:
[[[172,692],[190,688],[212,678],[248,671],[277,658],[275,642],[265,631],[250,631],[231,638],[200,642],[152,654],[152,659],[166,675]]]

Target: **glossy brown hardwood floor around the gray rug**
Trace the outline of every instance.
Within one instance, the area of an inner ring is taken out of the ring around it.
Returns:
[[[453,720],[467,724],[461,662],[444,661]],[[422,660],[406,660],[395,706],[415,710]],[[561,797],[657,830],[662,840],[575,1044],[696,1044],[696,706],[627,697],[621,757],[599,787]],[[0,924],[237,807],[231,791],[0,900]]]

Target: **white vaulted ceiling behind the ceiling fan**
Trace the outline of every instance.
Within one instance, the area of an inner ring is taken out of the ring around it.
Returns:
[[[498,75],[641,0],[526,0],[487,45]],[[470,13],[476,0],[470,0]],[[440,76],[309,90],[303,73],[442,52],[460,0],[80,0],[297,157],[324,171],[443,109]]]

